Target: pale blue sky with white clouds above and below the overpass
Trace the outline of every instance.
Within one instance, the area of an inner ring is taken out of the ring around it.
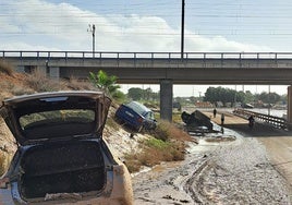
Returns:
[[[95,25],[96,51],[180,52],[181,11],[182,0],[0,0],[0,50],[90,51]],[[185,0],[184,51],[290,52],[291,11],[291,0]],[[207,87],[174,85],[173,93],[199,96]],[[287,93],[276,85],[228,87]]]

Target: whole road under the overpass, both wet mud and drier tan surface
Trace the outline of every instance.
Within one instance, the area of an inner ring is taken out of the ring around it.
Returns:
[[[263,124],[251,131],[246,120],[224,114],[224,133],[197,136],[185,160],[133,177],[134,204],[291,204],[292,134]],[[211,120],[221,123],[220,110]]]

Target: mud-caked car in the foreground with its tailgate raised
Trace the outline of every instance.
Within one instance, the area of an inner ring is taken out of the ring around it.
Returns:
[[[3,100],[17,150],[0,204],[133,204],[130,173],[102,138],[104,93],[52,92]]]

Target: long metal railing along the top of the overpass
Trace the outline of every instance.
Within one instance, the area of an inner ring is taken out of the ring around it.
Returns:
[[[181,59],[181,52],[20,51],[2,50],[0,58],[114,58]],[[292,52],[184,52],[183,59],[292,59]]]

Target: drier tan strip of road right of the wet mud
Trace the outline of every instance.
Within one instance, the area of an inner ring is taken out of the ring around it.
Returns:
[[[211,111],[205,111],[211,121],[221,124],[221,113],[217,112],[216,118]],[[272,128],[268,124],[257,123],[253,130],[247,126],[247,120],[233,116],[230,112],[224,113],[224,128],[234,130],[245,137],[254,137],[260,142],[267,150],[267,154],[275,168],[287,179],[292,188],[292,131],[284,131]]]

